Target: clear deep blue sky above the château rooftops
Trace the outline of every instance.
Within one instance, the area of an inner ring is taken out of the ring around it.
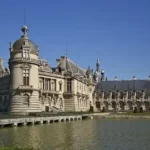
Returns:
[[[1,0],[0,57],[21,35],[26,8],[29,38],[55,66],[66,53],[82,68],[95,69],[99,56],[108,79],[150,75],[149,0]]]

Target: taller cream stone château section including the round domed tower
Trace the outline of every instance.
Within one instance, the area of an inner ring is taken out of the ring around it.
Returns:
[[[95,88],[92,71],[66,56],[52,68],[29,40],[27,26],[21,30],[21,38],[10,43],[9,69],[3,68],[0,59],[0,111],[89,111]]]

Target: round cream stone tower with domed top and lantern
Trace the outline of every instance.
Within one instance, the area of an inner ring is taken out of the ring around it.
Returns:
[[[10,106],[9,112],[39,112],[39,51],[28,38],[28,27],[22,28],[22,36],[10,43]]]

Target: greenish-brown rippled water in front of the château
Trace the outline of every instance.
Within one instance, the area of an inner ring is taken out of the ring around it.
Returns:
[[[0,129],[0,145],[40,150],[150,150],[150,120],[93,119]]]

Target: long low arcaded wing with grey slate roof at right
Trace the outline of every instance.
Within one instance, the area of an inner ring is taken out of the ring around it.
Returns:
[[[101,81],[93,94],[97,111],[149,111],[150,80]]]

